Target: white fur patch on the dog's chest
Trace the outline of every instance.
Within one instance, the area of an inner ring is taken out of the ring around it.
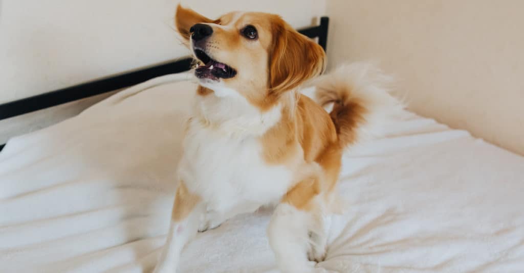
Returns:
[[[214,109],[206,104],[200,107],[203,111]],[[222,111],[223,105],[219,109]],[[223,121],[216,126],[203,119],[211,114],[217,117],[216,112],[199,113],[188,124],[179,165],[179,178],[188,188],[201,196],[208,208],[222,213],[238,208],[248,212],[285,194],[292,183],[292,171],[266,163],[257,139],[278,122],[280,108],[221,117]]]

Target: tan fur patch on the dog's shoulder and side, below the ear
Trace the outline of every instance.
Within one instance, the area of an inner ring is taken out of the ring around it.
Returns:
[[[321,166],[322,174],[299,181],[282,200],[298,209],[310,210],[309,201],[322,190],[325,191],[326,198],[331,195],[339,176],[344,146],[340,145],[335,125],[323,108],[306,96],[300,97],[297,106],[293,118],[290,115],[283,116],[261,141],[264,145],[264,158],[269,164],[291,165],[289,162],[298,156],[306,163]],[[311,182],[312,179],[314,183]]]

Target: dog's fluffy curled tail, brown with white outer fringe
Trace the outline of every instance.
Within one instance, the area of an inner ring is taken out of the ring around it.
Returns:
[[[339,142],[348,146],[380,137],[403,104],[386,87],[392,77],[371,63],[351,63],[313,81],[316,101],[330,112]]]

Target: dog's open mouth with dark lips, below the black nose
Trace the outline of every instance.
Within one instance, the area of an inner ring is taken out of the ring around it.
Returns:
[[[236,75],[236,71],[231,66],[211,59],[204,51],[195,49],[194,52],[196,58],[203,63],[203,65],[196,67],[196,77],[217,81],[219,78],[232,78]]]

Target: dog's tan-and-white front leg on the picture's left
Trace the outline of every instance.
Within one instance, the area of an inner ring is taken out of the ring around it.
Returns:
[[[168,237],[154,273],[177,271],[182,249],[198,231],[200,215],[203,212],[204,205],[201,197],[190,192],[184,181],[180,181],[174,197]]]

